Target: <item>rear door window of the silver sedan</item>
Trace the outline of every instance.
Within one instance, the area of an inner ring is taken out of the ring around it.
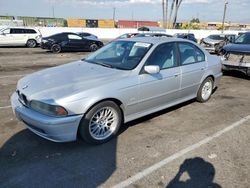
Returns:
[[[179,43],[179,50],[182,65],[205,61],[204,53],[193,44]]]

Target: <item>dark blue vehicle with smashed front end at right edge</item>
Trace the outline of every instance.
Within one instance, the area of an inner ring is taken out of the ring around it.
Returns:
[[[250,76],[250,32],[223,47],[223,71],[236,70]]]

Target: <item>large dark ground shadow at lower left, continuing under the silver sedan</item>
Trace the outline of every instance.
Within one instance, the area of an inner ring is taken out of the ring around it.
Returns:
[[[188,105],[195,100],[125,124],[119,134],[139,123]],[[119,138],[119,136],[118,136]],[[0,148],[0,187],[97,187],[116,170],[117,140],[103,145],[83,141],[54,143],[25,129]]]

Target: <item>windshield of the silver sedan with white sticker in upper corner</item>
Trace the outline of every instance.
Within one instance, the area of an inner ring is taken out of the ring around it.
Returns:
[[[145,42],[114,41],[84,61],[121,70],[134,69],[152,45]]]

